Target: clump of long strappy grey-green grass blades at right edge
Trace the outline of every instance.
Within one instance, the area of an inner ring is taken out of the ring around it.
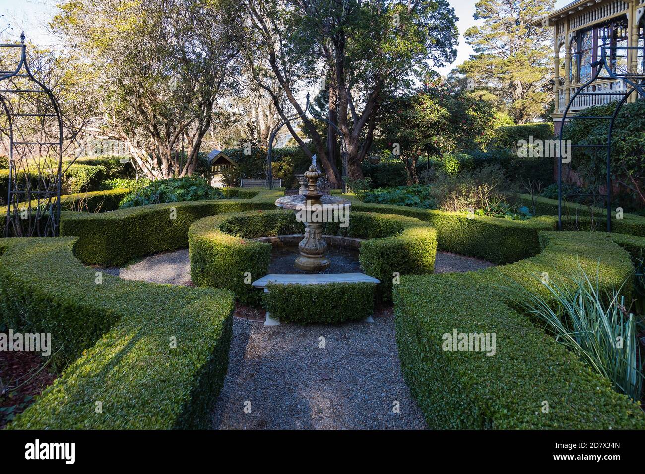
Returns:
[[[625,307],[623,286],[601,290],[598,272],[590,277],[580,264],[567,276],[566,284],[542,279],[547,297],[521,290],[516,302],[543,322],[557,342],[609,379],[614,390],[640,400],[643,374],[637,317]]]

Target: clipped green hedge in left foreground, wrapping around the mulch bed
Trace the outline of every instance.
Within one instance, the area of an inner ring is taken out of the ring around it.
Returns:
[[[75,240],[0,241],[8,327],[52,333],[61,362],[80,356],[8,428],[206,428],[228,368],[232,293],[110,275],[97,284]]]

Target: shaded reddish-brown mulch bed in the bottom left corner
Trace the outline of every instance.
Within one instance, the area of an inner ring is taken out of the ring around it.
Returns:
[[[0,430],[54,382],[51,365],[36,374],[45,362],[38,352],[0,351]]]

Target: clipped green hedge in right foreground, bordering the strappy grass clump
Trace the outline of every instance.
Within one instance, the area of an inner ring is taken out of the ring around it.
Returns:
[[[404,377],[432,428],[645,428],[637,404],[513,310],[501,288],[520,284],[548,296],[542,272],[566,284],[562,275],[577,264],[591,274],[599,266],[602,286],[617,288],[633,270],[619,244],[636,252],[645,239],[586,232],[539,236],[542,253],[530,259],[481,272],[406,276],[395,286]],[[496,333],[496,354],[443,351],[442,335],[455,329]]]

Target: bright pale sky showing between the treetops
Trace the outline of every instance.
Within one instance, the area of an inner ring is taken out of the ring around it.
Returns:
[[[18,39],[21,31],[25,30],[25,35],[39,44],[39,46],[54,46],[56,39],[48,34],[46,24],[55,14],[57,3],[61,0],[0,0],[0,32],[5,28],[5,34],[9,37]],[[459,17],[459,46],[457,47],[457,61],[444,68],[438,69],[439,74],[447,75],[450,70],[464,63],[472,54],[472,48],[466,44],[463,34],[468,28],[480,21],[473,19],[475,13],[475,0],[448,0],[448,3],[455,8],[455,13]],[[570,3],[570,0],[557,0],[556,8],[562,8]]]

